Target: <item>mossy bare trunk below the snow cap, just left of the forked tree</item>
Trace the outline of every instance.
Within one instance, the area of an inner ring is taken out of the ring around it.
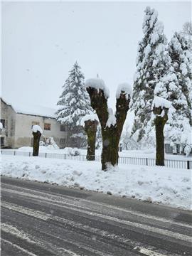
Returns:
[[[85,121],[85,132],[87,133],[87,160],[95,160],[95,142],[97,132],[97,120]]]

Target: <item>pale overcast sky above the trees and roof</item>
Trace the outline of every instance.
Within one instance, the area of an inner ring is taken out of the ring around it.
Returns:
[[[105,80],[114,105],[120,82],[132,84],[146,6],[168,39],[191,19],[188,2],[4,2],[2,96],[12,104],[55,107],[77,60],[85,79]]]

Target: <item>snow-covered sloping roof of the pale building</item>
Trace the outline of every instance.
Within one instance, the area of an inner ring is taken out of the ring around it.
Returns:
[[[6,100],[2,99],[6,105],[10,105],[14,111],[18,114],[31,114],[31,115],[36,115],[36,116],[41,116],[41,117],[50,117],[50,118],[55,118],[55,112],[56,109],[53,109],[51,107],[43,107],[39,105],[30,105],[30,104],[23,104],[23,103],[16,103],[16,104],[10,104],[6,102]]]

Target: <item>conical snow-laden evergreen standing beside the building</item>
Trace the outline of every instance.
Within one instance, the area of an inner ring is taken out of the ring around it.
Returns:
[[[73,129],[80,126],[82,117],[92,113],[90,97],[85,89],[84,79],[80,66],[76,62],[69,72],[68,79],[65,80],[63,93],[57,104],[59,109],[56,112],[56,119]],[[79,129],[76,132],[80,132]]]

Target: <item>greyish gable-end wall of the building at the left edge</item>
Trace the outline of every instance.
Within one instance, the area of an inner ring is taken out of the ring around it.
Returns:
[[[16,112],[11,105],[7,105],[3,100],[1,100],[1,119],[5,120],[5,127],[0,135],[4,138],[2,147],[13,147],[15,143]]]

